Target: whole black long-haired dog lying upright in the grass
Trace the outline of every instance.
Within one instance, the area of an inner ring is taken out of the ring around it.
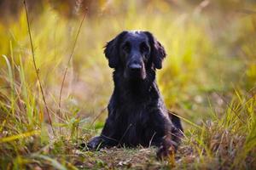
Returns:
[[[114,69],[113,95],[102,134],[88,148],[155,145],[159,158],[177,150],[183,128],[166,110],[155,82],[155,69],[166,57],[160,42],[148,31],[123,31],[107,43],[104,53]]]

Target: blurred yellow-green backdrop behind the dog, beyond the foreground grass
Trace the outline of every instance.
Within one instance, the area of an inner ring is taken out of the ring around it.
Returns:
[[[167,57],[163,69],[157,72],[161,94],[170,110],[191,122],[207,119],[212,107],[214,114],[221,115],[235,89],[251,92],[255,88],[254,0],[26,3],[39,77],[54,122],[58,122],[57,113],[61,110],[62,119],[79,118],[94,124],[96,129],[102,127],[113,90],[112,70],[103,47],[124,30],[151,31],[164,45]],[[40,119],[32,117],[38,114],[42,118],[45,111],[32,65],[23,1],[0,1],[0,40],[0,54],[7,58],[0,58],[2,105],[11,105],[11,96],[19,94],[15,111],[29,115],[28,122],[37,122]],[[67,66],[59,108],[61,81]],[[27,109],[28,105],[38,109],[36,113]]]

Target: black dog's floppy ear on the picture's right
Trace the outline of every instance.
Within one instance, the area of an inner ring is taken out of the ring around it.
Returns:
[[[151,48],[151,59],[154,64],[154,68],[161,69],[162,68],[162,61],[166,57],[166,50],[165,48],[158,42],[152,33],[145,31],[145,34],[148,36],[148,40],[150,43]]]

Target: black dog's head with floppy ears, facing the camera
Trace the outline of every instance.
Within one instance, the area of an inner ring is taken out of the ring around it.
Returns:
[[[149,69],[161,69],[165,48],[148,31],[123,31],[107,43],[108,65],[128,79],[144,80]]]

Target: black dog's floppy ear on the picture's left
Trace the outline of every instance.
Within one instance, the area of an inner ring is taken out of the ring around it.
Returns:
[[[116,68],[119,64],[119,44],[127,31],[122,31],[119,35],[110,42],[107,42],[104,47],[104,54],[108,59],[108,65],[110,68]]]

